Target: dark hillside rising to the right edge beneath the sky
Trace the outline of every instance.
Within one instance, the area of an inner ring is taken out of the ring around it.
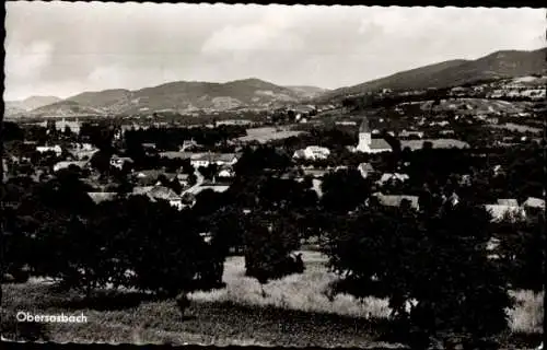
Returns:
[[[362,84],[334,90],[323,97],[337,98],[380,89],[423,90],[449,88],[481,80],[514,78],[546,71],[547,48],[535,51],[498,51],[476,60],[451,60],[398,72]]]

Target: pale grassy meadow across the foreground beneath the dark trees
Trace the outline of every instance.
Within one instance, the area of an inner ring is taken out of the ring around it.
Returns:
[[[305,272],[267,283],[268,295],[263,299],[258,282],[244,276],[243,258],[230,257],[224,269],[226,288],[190,294],[193,305],[184,322],[173,300],[143,301],[142,295],[126,292],[84,304],[75,293],[56,291],[43,281],[5,284],[2,335],[21,338],[38,334],[38,338],[60,342],[398,347],[380,342],[389,329],[385,300],[359,302],[350,295],[338,295],[329,302],[324,292],[336,276],[326,270],[325,257],[304,252],[303,258]],[[512,334],[504,336],[507,342],[521,349],[537,346],[542,295],[527,291],[513,295],[520,303],[508,312]],[[14,325],[18,311],[83,313],[89,322]],[[519,340],[523,335],[525,339]]]

